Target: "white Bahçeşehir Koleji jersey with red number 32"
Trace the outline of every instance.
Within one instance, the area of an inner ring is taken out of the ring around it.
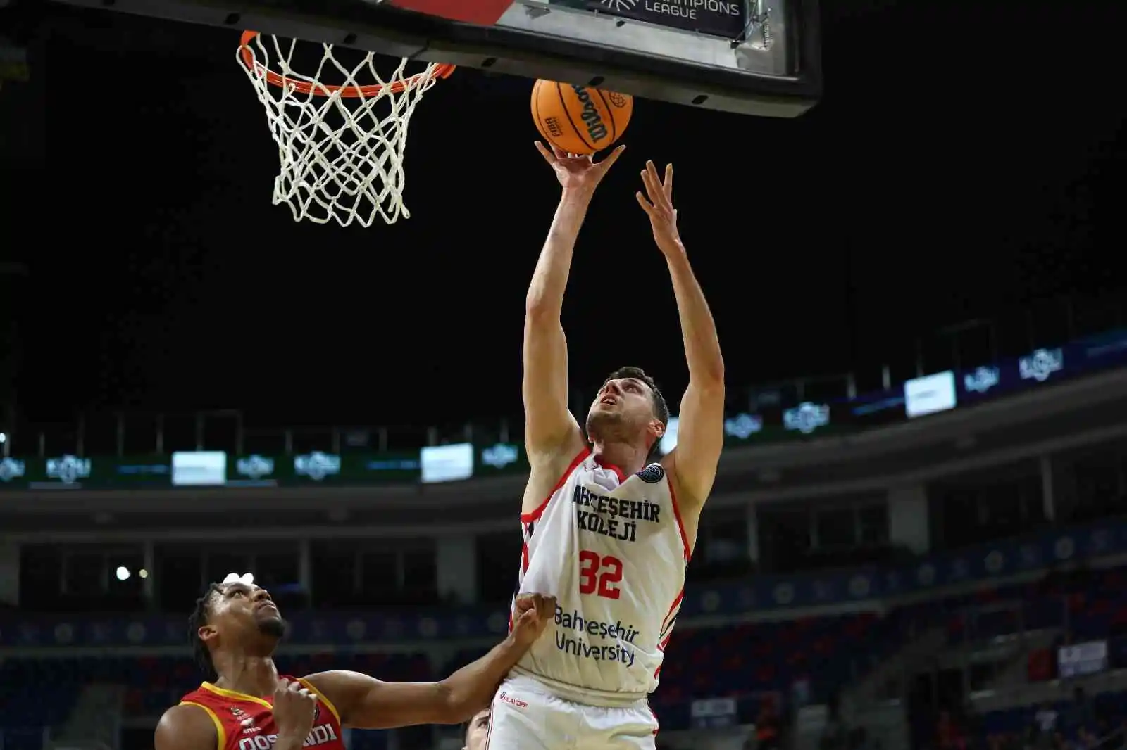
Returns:
[[[624,476],[584,450],[521,521],[517,591],[554,596],[557,609],[514,671],[592,705],[653,693],[690,556],[665,467]]]

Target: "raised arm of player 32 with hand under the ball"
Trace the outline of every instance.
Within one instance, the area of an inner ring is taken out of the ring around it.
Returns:
[[[564,291],[571,269],[579,227],[598,182],[622,153],[619,146],[601,162],[576,157],[539,141],[536,149],[551,164],[564,188],[548,239],[529,285],[524,316],[524,444],[533,466],[576,452],[583,434],[568,411],[567,339],[560,324]],[[568,455],[570,459],[573,456]]]

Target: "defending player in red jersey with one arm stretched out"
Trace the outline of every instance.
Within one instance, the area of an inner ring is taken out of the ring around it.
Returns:
[[[463,722],[489,704],[554,606],[551,597],[522,598],[509,636],[440,682],[381,682],[343,670],[286,678],[273,660],[285,625],[266,590],[241,580],[213,584],[189,623],[197,658],[219,679],[165,712],[156,750],[345,750],[345,726]]]

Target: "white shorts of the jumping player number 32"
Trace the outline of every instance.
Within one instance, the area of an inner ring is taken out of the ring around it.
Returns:
[[[494,696],[486,750],[655,750],[657,717],[645,699],[621,708],[552,695],[511,675]]]

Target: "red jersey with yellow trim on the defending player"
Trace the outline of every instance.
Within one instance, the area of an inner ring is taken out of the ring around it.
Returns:
[[[295,678],[285,679],[292,681]],[[340,715],[336,707],[307,680],[296,679],[310,693],[317,695],[313,729],[302,747],[317,750],[345,750]],[[207,712],[215,725],[215,750],[272,750],[274,742],[277,741],[277,726],[274,724],[274,706],[270,705],[270,698],[224,690],[211,682],[204,682],[180,698],[180,705],[196,706]]]

